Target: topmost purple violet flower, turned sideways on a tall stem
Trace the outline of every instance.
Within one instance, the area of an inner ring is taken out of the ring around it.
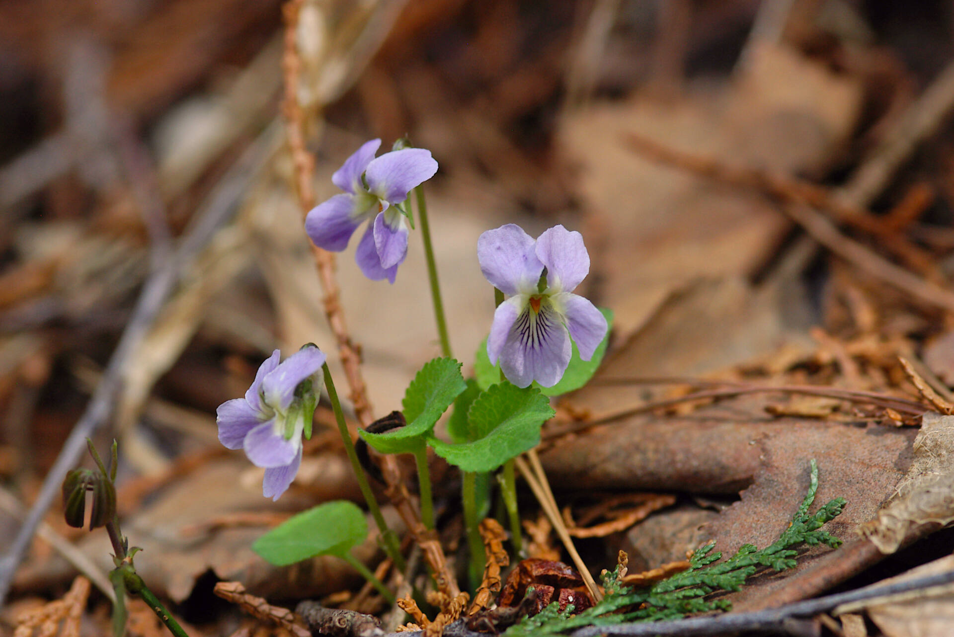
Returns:
[[[375,158],[380,139],[365,142],[331,181],[344,191],[313,208],[305,232],[319,248],[341,252],[364,220],[370,220],[355,259],[365,277],[391,283],[407,254],[407,222],[395,204],[437,173],[430,151],[407,148]]]

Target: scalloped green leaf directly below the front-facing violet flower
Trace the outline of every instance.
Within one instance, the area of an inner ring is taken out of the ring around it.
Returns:
[[[451,444],[433,436],[427,442],[438,456],[464,471],[492,471],[540,442],[540,425],[555,412],[538,389],[509,382],[493,385],[467,413],[467,439]]]

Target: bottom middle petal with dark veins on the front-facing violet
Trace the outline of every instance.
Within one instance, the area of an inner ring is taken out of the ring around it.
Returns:
[[[535,319],[532,314],[532,310],[523,312],[513,323],[500,355],[500,368],[518,387],[534,380],[552,387],[570,365],[570,335],[554,309],[542,309]]]

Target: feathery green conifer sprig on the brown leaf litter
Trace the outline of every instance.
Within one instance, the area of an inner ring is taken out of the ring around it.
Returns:
[[[550,604],[537,615],[510,627],[505,635],[556,636],[579,627],[657,622],[679,619],[692,613],[729,610],[732,604],[728,600],[707,600],[706,596],[719,591],[739,590],[748,578],[766,568],[776,571],[793,568],[799,545],[823,544],[832,548],[841,545],[838,538],[819,529],[840,515],[845,500],[835,498],[809,515],[808,509],[819,488],[819,467],[814,460],[810,466],[808,493],[792,518],[792,524],[771,545],[761,550],[755,545],[742,545],[724,562],[719,562],[722,553],[713,552],[715,543],[702,546],[690,558],[687,570],[642,589],[622,586],[617,565],[612,572],[604,573],[606,596],[595,606],[574,615],[573,606],[561,611],[557,604]]]

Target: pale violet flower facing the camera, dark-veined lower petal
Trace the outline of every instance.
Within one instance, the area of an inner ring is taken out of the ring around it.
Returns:
[[[510,297],[497,307],[487,337],[490,362],[500,360],[510,382],[555,385],[570,365],[570,339],[581,359],[592,358],[607,322],[589,300],[570,294],[590,273],[582,235],[558,225],[534,240],[508,223],[477,239],[477,259],[487,280]]]

